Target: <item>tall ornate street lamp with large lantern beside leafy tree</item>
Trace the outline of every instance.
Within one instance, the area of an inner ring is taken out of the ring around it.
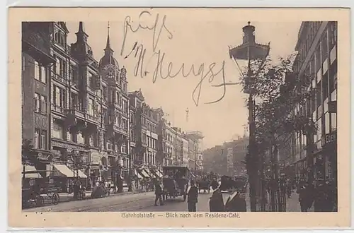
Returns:
[[[244,93],[249,94],[249,156],[253,158],[251,160],[255,164],[252,167],[255,167],[256,162],[256,124],[254,122],[254,113],[253,113],[253,73],[251,71],[251,60],[255,59],[263,59],[268,56],[269,54],[269,44],[257,44],[255,38],[255,27],[251,25],[251,22],[248,22],[248,25],[242,28],[244,35],[243,35],[243,42],[241,45],[237,47],[229,47],[229,55],[230,58],[234,60],[237,67],[239,68],[239,64],[236,60],[246,60],[248,61],[248,68],[247,68],[247,76],[244,77],[246,87],[244,88]],[[260,66],[261,68],[261,66]],[[242,75],[242,71],[240,71]],[[258,73],[258,71],[257,71]],[[257,75],[256,73],[256,75]],[[250,201],[251,201],[251,211],[256,211],[256,175],[253,172],[250,172]]]

